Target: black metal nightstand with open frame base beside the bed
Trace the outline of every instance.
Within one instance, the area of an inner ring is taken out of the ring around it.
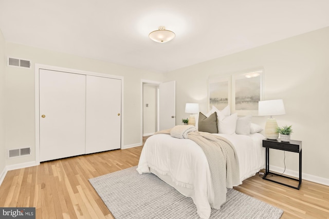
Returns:
[[[269,139],[266,138],[266,139],[263,140],[263,147],[266,148],[266,164],[265,164],[266,166],[265,166],[265,175],[263,176],[263,180],[278,183],[278,184],[281,184],[281,185],[284,185],[284,186],[288,186],[290,188],[299,189],[300,185],[302,183],[302,142],[301,141],[294,141],[294,140],[290,140],[290,142],[281,142],[280,139],[278,139],[278,140],[269,140]],[[280,174],[277,174],[277,173],[272,173],[272,172],[269,171],[269,149],[270,148],[271,149],[277,149],[277,150],[283,150],[283,151],[290,151],[290,152],[299,153],[299,179],[291,178],[291,177],[280,175]],[[266,176],[268,174],[282,176],[282,177],[285,177],[285,178],[289,178],[290,180],[299,181],[298,187],[290,186],[290,185],[280,183],[280,182],[271,180],[269,178],[266,178]]]

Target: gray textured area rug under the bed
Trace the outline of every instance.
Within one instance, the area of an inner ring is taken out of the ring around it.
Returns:
[[[131,167],[90,178],[103,202],[116,219],[199,218],[192,198],[180,194],[152,173],[138,174]],[[220,210],[211,209],[210,218],[280,218],[283,210],[234,189]]]

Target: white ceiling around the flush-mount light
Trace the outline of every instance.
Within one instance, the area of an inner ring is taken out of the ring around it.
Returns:
[[[169,43],[149,39],[165,26]],[[0,0],[8,42],[167,72],[329,26],[329,0]]]

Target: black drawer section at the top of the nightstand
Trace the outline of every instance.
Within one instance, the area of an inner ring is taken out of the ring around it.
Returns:
[[[290,142],[281,142],[280,139],[266,139],[263,140],[263,147],[299,153],[302,149],[302,143],[294,140],[291,140]]]

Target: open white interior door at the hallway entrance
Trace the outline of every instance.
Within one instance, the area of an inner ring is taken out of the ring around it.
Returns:
[[[176,83],[175,81],[159,85],[159,128],[170,129],[176,124]]]

